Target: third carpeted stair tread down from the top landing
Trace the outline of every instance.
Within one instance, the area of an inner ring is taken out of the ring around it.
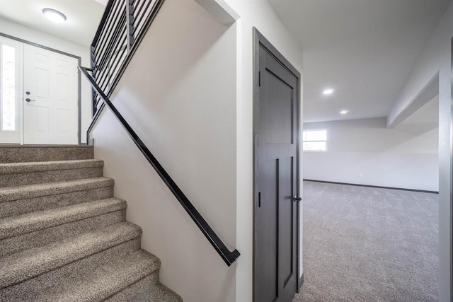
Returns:
[[[0,219],[0,240],[126,208],[124,200],[108,198]]]

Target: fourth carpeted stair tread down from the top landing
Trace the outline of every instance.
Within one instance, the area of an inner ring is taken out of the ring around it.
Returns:
[[[139,226],[122,222],[0,258],[0,289],[81,260],[141,235],[142,229]]]

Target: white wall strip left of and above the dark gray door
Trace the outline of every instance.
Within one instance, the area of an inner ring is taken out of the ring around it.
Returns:
[[[225,0],[239,15],[237,35],[237,263],[236,301],[252,301],[253,247],[253,36],[256,27],[302,74],[302,49],[265,0]],[[303,87],[303,81],[301,81]],[[301,87],[301,100],[302,100]],[[301,115],[302,117],[302,108]],[[302,158],[302,156],[301,156]],[[302,216],[302,207],[301,207]],[[302,223],[301,223],[302,227]],[[301,229],[302,236],[302,229]],[[302,238],[301,238],[302,241]],[[302,250],[301,256],[302,256]],[[300,267],[302,274],[302,262]]]

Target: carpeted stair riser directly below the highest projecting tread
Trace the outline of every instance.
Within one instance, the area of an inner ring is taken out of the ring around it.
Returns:
[[[103,167],[2,174],[0,175],[0,187],[16,187],[18,185],[34,185],[45,182],[98,178],[102,175]]]

